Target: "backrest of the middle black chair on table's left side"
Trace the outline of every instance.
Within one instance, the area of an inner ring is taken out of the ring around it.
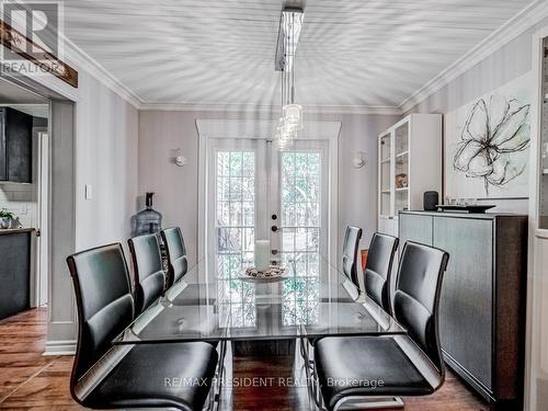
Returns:
[[[139,313],[162,295],[165,274],[157,235],[134,237],[128,243],[134,263],[135,310]]]

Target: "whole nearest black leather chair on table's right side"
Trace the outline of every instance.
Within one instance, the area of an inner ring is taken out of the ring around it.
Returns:
[[[408,334],[318,341],[316,375],[329,410],[364,397],[425,396],[442,386],[445,365],[437,317],[448,258],[445,251],[406,243],[393,306]]]

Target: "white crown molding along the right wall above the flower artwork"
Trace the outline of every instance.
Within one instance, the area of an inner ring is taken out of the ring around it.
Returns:
[[[548,2],[546,0],[537,0],[530,3],[518,14],[491,33],[486,39],[466,53],[457,61],[437,75],[434,79],[430,80],[421,89],[402,101],[399,105],[401,112],[406,113],[410,111],[416,104],[423,102],[432,94],[439,91],[450,81],[470,70],[478,62],[484,60],[491,54],[547,16]]]

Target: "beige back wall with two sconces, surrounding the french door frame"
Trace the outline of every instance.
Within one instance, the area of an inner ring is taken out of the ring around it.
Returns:
[[[195,262],[197,250],[198,118],[274,119],[266,114],[222,112],[139,112],[139,195],[155,192],[155,208],[163,215],[163,226],[180,226],[189,255]],[[342,122],[339,139],[339,230],[346,225],[364,229],[366,247],[377,226],[377,135],[398,121],[398,116],[357,114],[308,114],[306,121]],[[170,161],[180,148],[189,163]],[[366,152],[366,165],[356,170],[352,158]],[[342,241],[342,240],[341,240]]]

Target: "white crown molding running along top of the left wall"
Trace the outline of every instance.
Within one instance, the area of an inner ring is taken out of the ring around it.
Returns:
[[[65,58],[78,67],[78,70],[94,77],[107,89],[116,93],[119,98],[139,110],[141,105],[140,98],[126,84],[114,77],[109,70],[101,66],[89,54],[72,43],[67,36],[61,34],[65,45]]]

